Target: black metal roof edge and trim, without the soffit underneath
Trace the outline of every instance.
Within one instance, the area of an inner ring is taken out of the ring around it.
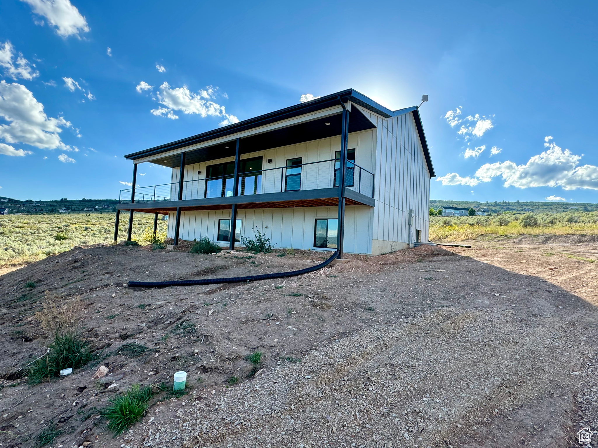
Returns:
[[[293,118],[295,116],[305,115],[306,113],[320,111],[322,109],[338,105],[339,97],[341,102],[343,103],[350,101],[352,103],[355,103],[356,105],[361,106],[364,109],[368,109],[368,111],[377,113],[378,115],[381,115],[384,118],[391,118],[393,116],[403,115],[404,113],[409,112],[413,113],[413,118],[416,122],[417,133],[419,134],[420,141],[422,142],[422,148],[426,158],[426,164],[428,165],[428,170],[430,171],[431,177],[436,176],[436,174],[434,173],[434,167],[432,166],[432,159],[430,158],[428,142],[426,141],[426,136],[423,132],[422,120],[420,118],[417,106],[399,109],[398,111],[391,111],[390,109],[385,108],[379,103],[376,103],[371,98],[365,96],[362,93],[359,93],[356,90],[353,90],[352,88],[337,93],[332,93],[327,96],[322,96],[318,99],[311,100],[305,103],[300,103],[298,105],[290,106],[288,108],[280,109],[278,111],[266,113],[264,115],[256,116],[254,118],[239,121],[238,123],[230,124],[228,126],[217,128],[202,134],[197,134],[195,136],[187,137],[185,139],[176,140],[175,142],[166,143],[160,146],[154,146],[154,148],[148,148],[144,151],[133,152],[132,154],[127,154],[124,157],[129,160],[141,159],[144,157],[161,154],[163,152],[172,151],[173,149],[185,148],[185,146],[197,145],[198,143],[208,142],[209,140],[213,139],[219,139],[231,134],[236,134],[242,131],[250,130],[274,122]]]

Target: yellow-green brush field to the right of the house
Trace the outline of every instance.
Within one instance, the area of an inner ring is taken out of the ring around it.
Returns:
[[[430,217],[431,241],[475,240],[481,235],[598,235],[598,211]]]

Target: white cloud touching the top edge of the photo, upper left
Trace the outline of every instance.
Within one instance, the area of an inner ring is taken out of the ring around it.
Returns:
[[[56,34],[66,38],[89,31],[85,17],[81,16],[69,0],[21,0],[30,5],[33,13],[44,16],[48,23],[56,27]],[[35,22],[43,25],[44,22]]]

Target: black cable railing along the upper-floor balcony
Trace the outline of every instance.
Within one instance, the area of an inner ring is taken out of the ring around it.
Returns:
[[[333,188],[338,186],[339,178],[340,161],[338,159],[246,171],[239,173],[237,194],[249,196]],[[233,196],[233,183],[233,174],[185,180],[182,188],[182,200],[230,197]],[[347,160],[345,186],[373,198],[374,174]],[[120,203],[130,203],[131,195],[132,188],[121,190]],[[135,202],[176,201],[178,198],[179,182],[135,188]]]

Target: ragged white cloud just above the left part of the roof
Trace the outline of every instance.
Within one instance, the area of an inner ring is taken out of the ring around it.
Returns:
[[[211,89],[212,94],[216,90],[211,86],[206,89]],[[239,122],[239,119],[236,116],[226,113],[224,106],[220,106],[213,101],[205,99],[205,96],[203,96],[204,93],[210,95],[208,90],[200,90],[200,93],[197,94],[191,92],[186,85],[178,88],[170,88],[170,85],[168,85],[167,82],[160,85],[159,90],[160,91],[157,93],[158,102],[161,105],[166,106],[166,108],[159,107],[158,109],[149,111],[154,115],[177,119],[179,117],[175,115],[173,111],[181,111],[187,114],[196,113],[204,118],[208,115],[221,116],[224,119],[219,122],[220,126]]]

